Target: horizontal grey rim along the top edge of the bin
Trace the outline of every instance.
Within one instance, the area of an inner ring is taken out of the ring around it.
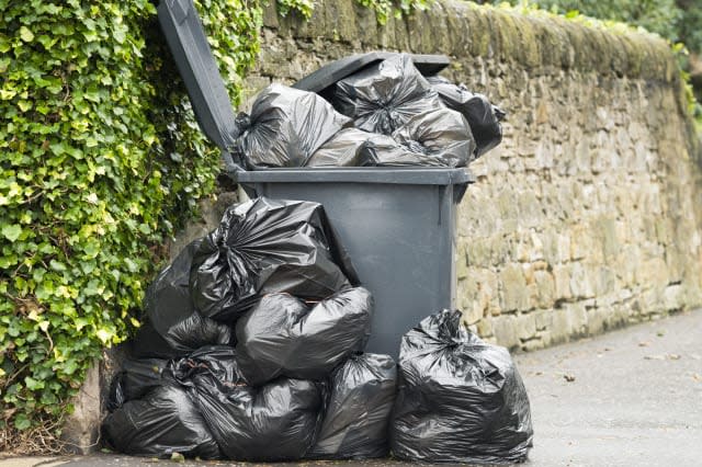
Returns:
[[[271,168],[229,173],[234,182],[250,183],[385,183],[406,185],[457,185],[474,183],[465,168],[340,167]]]

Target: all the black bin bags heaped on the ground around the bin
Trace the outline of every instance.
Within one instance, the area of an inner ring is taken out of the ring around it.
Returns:
[[[522,462],[532,428],[508,352],[424,319],[398,365],[363,353],[373,299],[321,205],[231,206],[149,287],[103,422],[121,453],[202,459]]]

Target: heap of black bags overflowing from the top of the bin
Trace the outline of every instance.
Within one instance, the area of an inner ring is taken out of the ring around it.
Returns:
[[[330,102],[272,84],[240,114],[236,152],[251,170],[466,167],[502,140],[505,113],[396,54],[338,81]]]

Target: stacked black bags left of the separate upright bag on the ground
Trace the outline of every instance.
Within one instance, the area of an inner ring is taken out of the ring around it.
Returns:
[[[110,394],[116,451],[203,459],[388,452],[397,369],[363,353],[373,299],[321,205],[229,207],[151,284]]]

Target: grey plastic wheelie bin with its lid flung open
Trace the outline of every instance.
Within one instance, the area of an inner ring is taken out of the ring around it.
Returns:
[[[321,203],[359,278],[375,298],[366,350],[397,356],[400,337],[454,306],[456,205],[465,169],[335,168],[246,171],[231,156],[238,136],[216,62],[192,0],[162,0],[159,21],[203,132],[229,176],[253,196]]]

